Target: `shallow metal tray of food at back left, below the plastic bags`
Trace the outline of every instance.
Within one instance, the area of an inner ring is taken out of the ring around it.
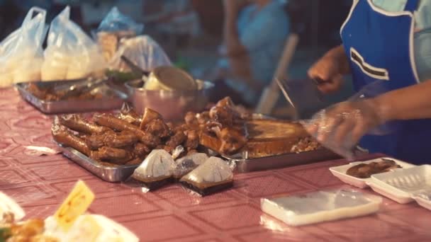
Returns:
[[[71,84],[74,81],[68,81]],[[40,87],[56,86],[64,84],[65,81],[39,81],[37,82]],[[95,88],[91,92],[103,93],[103,98],[93,100],[60,100],[60,101],[46,101],[36,98],[32,93],[28,92],[28,83],[16,83],[16,88],[28,103],[38,108],[40,112],[45,114],[55,113],[86,113],[103,110],[114,110],[121,108],[124,101],[128,98],[127,94],[121,91],[110,88],[106,85]]]

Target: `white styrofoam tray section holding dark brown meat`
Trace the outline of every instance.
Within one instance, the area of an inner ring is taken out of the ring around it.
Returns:
[[[366,183],[369,182],[371,180],[371,178],[355,178],[352,175],[347,175],[346,172],[352,166],[357,166],[360,163],[369,164],[371,162],[379,162],[379,161],[381,161],[381,159],[388,159],[388,160],[395,161],[399,166],[402,167],[400,169],[410,168],[410,167],[415,166],[413,164],[410,164],[410,163],[407,163],[407,162],[404,162],[404,161],[400,161],[400,160],[397,160],[397,159],[393,159],[391,157],[382,157],[382,158],[379,158],[379,159],[372,159],[372,160],[369,160],[369,161],[352,162],[352,163],[349,163],[349,164],[344,165],[344,166],[335,166],[335,167],[329,168],[329,170],[332,173],[332,175],[335,175],[337,178],[339,178],[340,180],[342,180],[343,183],[347,183],[349,185],[353,185],[353,186],[355,186],[357,188],[367,188],[368,185]],[[398,170],[398,169],[395,169],[395,170]],[[395,171],[395,170],[393,170],[393,171]]]

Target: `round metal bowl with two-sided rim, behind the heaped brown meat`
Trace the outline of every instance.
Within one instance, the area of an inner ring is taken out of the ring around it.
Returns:
[[[166,120],[182,120],[189,111],[201,112],[208,104],[209,93],[214,86],[208,81],[198,81],[200,88],[196,91],[166,91],[146,90],[142,88],[143,84],[142,80],[125,83],[130,103],[138,113],[151,108]]]

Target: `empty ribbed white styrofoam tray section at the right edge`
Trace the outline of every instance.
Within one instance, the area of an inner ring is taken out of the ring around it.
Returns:
[[[415,200],[422,207],[431,209],[431,165],[371,175],[368,184],[374,191],[396,202]]]

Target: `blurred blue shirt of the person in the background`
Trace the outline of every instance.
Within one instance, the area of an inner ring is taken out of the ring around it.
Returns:
[[[245,7],[238,16],[237,28],[240,42],[250,57],[254,80],[268,85],[289,35],[289,18],[284,10],[284,3],[273,0],[260,10],[257,10],[255,4]],[[259,98],[260,93],[252,93],[243,81],[228,80],[227,83],[242,93],[250,103]]]

